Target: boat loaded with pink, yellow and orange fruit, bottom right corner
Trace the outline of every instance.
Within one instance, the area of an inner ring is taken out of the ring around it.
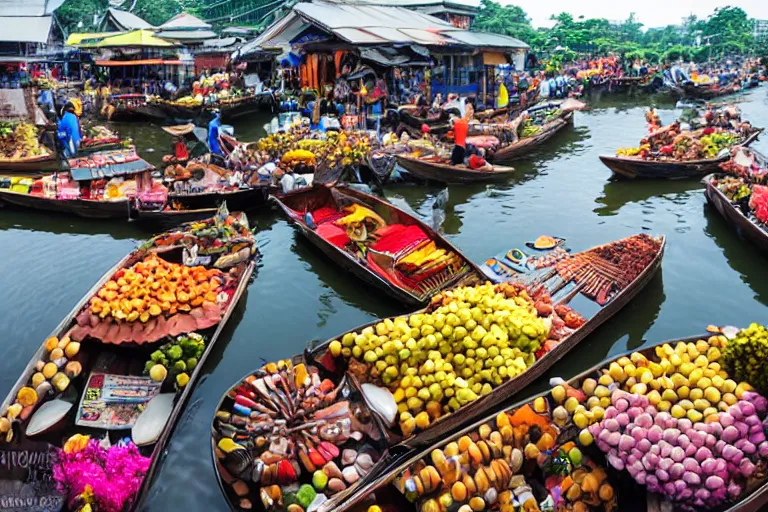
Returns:
[[[553,379],[415,448],[336,510],[762,510],[768,331],[709,330]]]

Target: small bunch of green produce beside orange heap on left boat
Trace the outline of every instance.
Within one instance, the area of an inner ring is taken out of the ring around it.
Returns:
[[[156,382],[163,382],[168,375],[183,388],[189,382],[189,374],[197,366],[205,350],[205,338],[197,333],[183,334],[152,352],[144,366],[144,373]]]

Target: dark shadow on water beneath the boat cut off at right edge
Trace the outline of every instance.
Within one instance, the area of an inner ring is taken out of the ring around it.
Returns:
[[[704,204],[706,225],[704,234],[711,238],[725,256],[728,265],[739,273],[744,284],[755,293],[755,298],[768,306],[768,272],[765,255],[736,229],[709,203]]]

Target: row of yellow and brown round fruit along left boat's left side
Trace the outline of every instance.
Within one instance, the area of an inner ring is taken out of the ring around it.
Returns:
[[[13,423],[26,420],[39,404],[67,390],[70,380],[83,371],[82,364],[74,360],[79,353],[80,343],[67,336],[45,341],[45,360],[37,362],[27,385],[19,389],[16,399],[0,415],[0,439],[11,442]]]

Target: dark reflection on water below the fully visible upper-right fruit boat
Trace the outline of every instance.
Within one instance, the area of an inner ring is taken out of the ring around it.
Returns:
[[[617,215],[630,203],[642,203],[654,197],[677,197],[692,190],[702,189],[698,179],[691,180],[625,180],[611,177],[603,193],[595,202],[603,206],[594,209],[600,217]]]

